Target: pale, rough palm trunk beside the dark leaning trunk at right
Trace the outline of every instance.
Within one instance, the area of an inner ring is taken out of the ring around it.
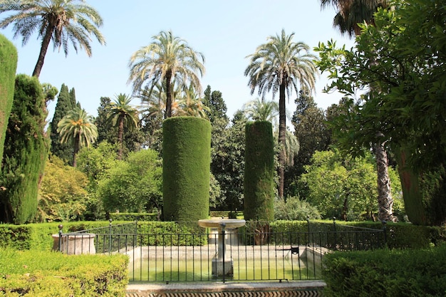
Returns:
[[[378,172],[378,219],[395,222],[393,197],[388,172],[388,156],[383,143],[375,145],[376,171]]]

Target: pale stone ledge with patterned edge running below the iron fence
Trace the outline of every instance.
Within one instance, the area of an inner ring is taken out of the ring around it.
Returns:
[[[323,281],[130,283],[126,297],[319,297]]]

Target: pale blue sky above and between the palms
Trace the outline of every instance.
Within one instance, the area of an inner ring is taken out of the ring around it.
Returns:
[[[91,42],[91,57],[73,47],[66,57],[63,51],[48,48],[40,75],[41,83],[50,83],[60,89],[62,83],[75,88],[76,99],[90,115],[96,116],[101,97],[115,98],[120,93],[131,94],[128,83],[129,60],[135,51],[152,43],[152,37],[160,31],[171,30],[192,47],[204,54],[206,73],[201,83],[203,90],[210,85],[212,90],[222,92],[227,104],[227,115],[243,108],[259,95],[257,89],[251,95],[244,70],[249,63],[248,55],[256,47],[266,43],[268,36],[275,36],[282,29],[294,33],[294,41],[304,42],[310,48],[319,42],[335,40],[339,46],[353,45],[346,36],[333,28],[333,8],[321,10],[319,0],[86,0],[103,18],[100,31],[105,36],[106,46]],[[0,19],[4,16],[0,15]],[[36,65],[40,39],[37,33],[22,46],[21,38],[13,39],[13,26],[0,29],[19,52],[17,73],[31,75]],[[323,93],[328,83],[321,75],[316,83],[314,100],[319,108],[326,109],[338,103],[338,93]],[[294,99],[287,101],[287,110],[294,112]],[[274,100],[278,100],[278,95]],[[272,100],[272,94],[266,96]],[[135,98],[133,105],[139,105]],[[48,120],[51,120],[56,100],[48,105]]]

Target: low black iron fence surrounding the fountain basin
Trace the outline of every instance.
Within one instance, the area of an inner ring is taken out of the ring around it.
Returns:
[[[385,228],[366,229],[310,222],[307,231],[206,229],[159,234],[138,232],[138,222],[59,234],[68,254],[127,254],[133,282],[291,281],[321,278],[331,251],[379,249]],[[70,237],[78,241],[71,248]],[[88,244],[85,242],[88,241]],[[71,253],[70,253],[71,251]],[[74,252],[73,252],[74,251]]]

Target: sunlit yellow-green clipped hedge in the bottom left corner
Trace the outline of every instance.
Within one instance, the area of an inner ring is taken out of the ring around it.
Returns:
[[[0,296],[125,296],[128,257],[0,249]]]

